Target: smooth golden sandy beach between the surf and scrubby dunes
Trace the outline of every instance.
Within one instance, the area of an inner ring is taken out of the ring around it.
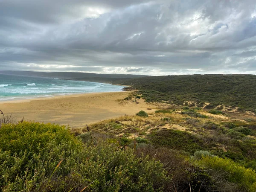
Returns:
[[[26,120],[51,122],[69,125],[70,128],[84,127],[122,115],[134,115],[140,110],[150,108],[143,99],[139,103],[120,103],[130,92],[86,93],[52,98],[37,98],[0,102],[0,110],[12,113],[17,120],[25,116]]]

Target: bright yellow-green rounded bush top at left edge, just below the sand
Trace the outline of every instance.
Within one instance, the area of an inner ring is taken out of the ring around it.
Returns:
[[[10,151],[11,155],[29,151],[30,155],[38,152],[38,146],[44,148],[50,141],[56,145],[73,140],[65,126],[23,122],[18,125],[7,124],[0,128],[0,148]],[[73,142],[73,141],[72,141]]]

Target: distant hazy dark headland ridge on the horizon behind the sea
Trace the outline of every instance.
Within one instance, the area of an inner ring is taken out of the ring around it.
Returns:
[[[111,81],[116,81],[120,79],[145,77],[143,75],[129,75],[129,74],[97,74],[97,73],[73,73],[73,72],[46,73],[46,72],[35,72],[35,71],[0,71],[0,74],[49,77],[49,78],[70,79],[70,80],[78,80],[78,81],[94,81],[94,82],[111,82]]]

